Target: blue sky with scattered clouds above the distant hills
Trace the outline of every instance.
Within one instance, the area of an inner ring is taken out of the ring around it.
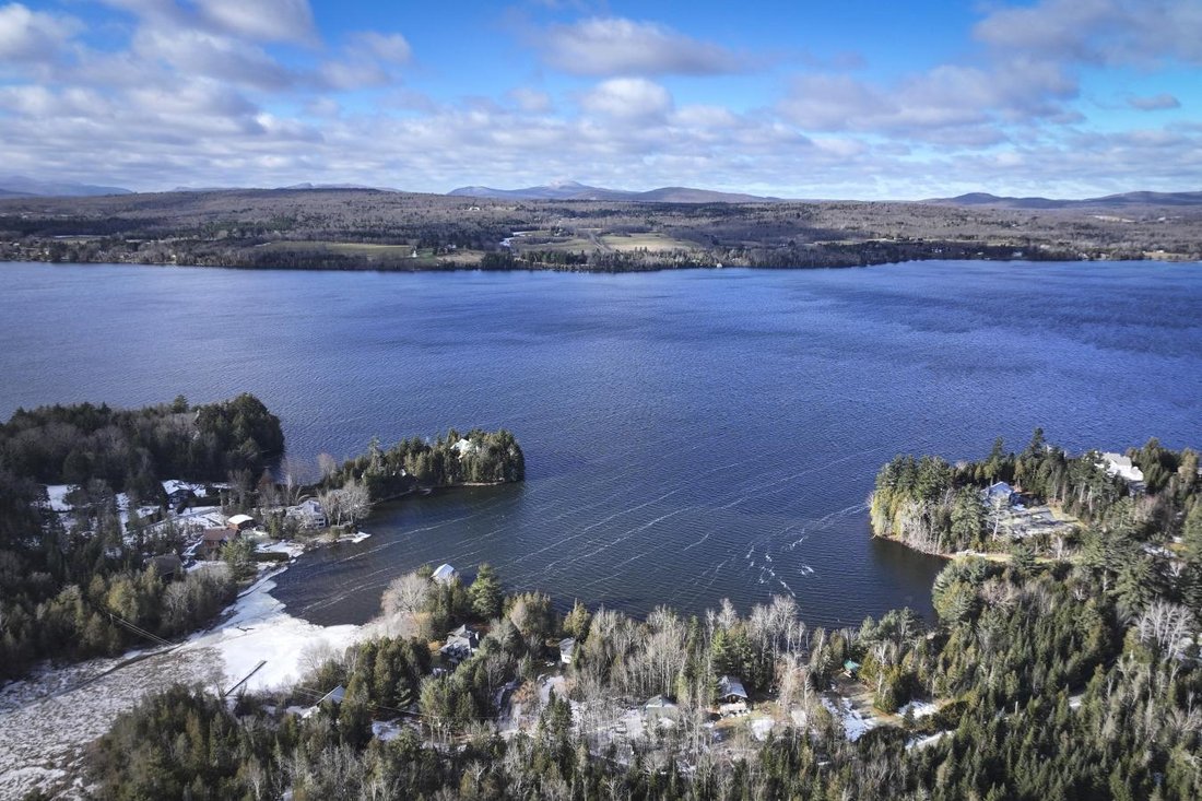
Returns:
[[[0,0],[0,172],[139,190],[1197,190],[1200,108],[1200,0]]]

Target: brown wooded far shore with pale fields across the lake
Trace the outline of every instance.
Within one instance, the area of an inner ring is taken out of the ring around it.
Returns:
[[[1200,260],[1202,206],[644,203],[350,189],[0,200],[0,261],[624,272],[918,259]]]

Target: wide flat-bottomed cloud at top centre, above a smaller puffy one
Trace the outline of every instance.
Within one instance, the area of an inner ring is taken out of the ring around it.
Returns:
[[[749,67],[745,57],[719,44],[620,17],[553,25],[537,43],[547,64],[573,75],[720,75]]]

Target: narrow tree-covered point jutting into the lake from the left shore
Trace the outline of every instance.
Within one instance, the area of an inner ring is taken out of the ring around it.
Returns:
[[[504,483],[525,477],[525,457],[513,434],[456,429],[434,441],[404,439],[385,450],[373,440],[367,452],[341,465],[327,462],[323,482],[367,487],[373,502],[395,498],[416,487]]]

